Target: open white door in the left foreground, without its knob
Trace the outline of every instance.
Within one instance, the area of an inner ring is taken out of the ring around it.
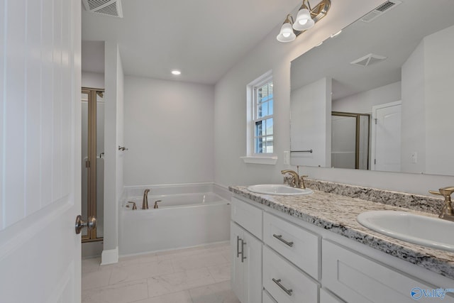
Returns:
[[[0,0],[0,302],[80,302],[78,0]]]

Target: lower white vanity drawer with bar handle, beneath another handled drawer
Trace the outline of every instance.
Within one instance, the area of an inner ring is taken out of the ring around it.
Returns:
[[[266,246],[263,287],[279,303],[319,302],[319,284]]]

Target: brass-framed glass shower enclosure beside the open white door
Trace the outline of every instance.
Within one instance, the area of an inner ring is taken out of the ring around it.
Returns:
[[[82,217],[96,228],[82,230],[82,242],[101,241],[104,226],[104,89],[82,88]]]

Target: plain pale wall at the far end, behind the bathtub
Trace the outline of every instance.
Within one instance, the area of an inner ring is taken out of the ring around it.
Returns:
[[[126,76],[125,185],[213,182],[213,112],[214,86]]]

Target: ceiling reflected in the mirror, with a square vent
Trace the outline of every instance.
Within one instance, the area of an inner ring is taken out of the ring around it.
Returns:
[[[370,23],[356,21],[292,61],[292,89],[331,77],[336,100],[400,81],[401,67],[421,39],[454,25],[454,1],[437,0],[436,4],[402,0]],[[350,64],[369,53],[387,59],[367,67]]]

